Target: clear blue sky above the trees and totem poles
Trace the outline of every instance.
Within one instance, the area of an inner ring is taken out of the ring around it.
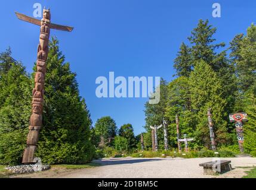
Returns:
[[[0,52],[8,46],[14,58],[32,72],[39,42],[39,27],[16,18],[14,11],[33,16],[33,4],[51,8],[51,21],[75,27],[72,33],[51,30],[60,49],[76,72],[79,90],[85,97],[95,124],[111,116],[116,124],[131,123],[135,134],[144,131],[144,103],[140,99],[98,99],[95,79],[108,76],[161,76],[172,80],[173,60],[181,42],[208,18],[217,27],[217,42],[226,42],[256,20],[256,1],[0,1]],[[221,4],[221,18],[212,17],[212,4]]]

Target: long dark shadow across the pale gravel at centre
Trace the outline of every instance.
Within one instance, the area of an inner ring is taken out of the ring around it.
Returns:
[[[160,160],[162,159],[131,159],[131,160],[109,159],[109,160],[94,160],[94,162],[100,163],[102,165],[116,165],[116,164],[134,164],[134,163],[141,163],[141,162],[155,162]]]

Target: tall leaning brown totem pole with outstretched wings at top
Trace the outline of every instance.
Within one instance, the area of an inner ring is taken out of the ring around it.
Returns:
[[[40,26],[40,37],[37,53],[37,72],[35,74],[35,88],[33,88],[32,98],[32,115],[30,116],[29,134],[27,135],[27,146],[23,153],[23,164],[35,163],[35,151],[37,148],[39,130],[42,128],[42,110],[44,103],[44,84],[46,73],[46,62],[48,56],[48,43],[50,37],[50,29],[63,31],[72,31],[72,27],[60,26],[51,23],[50,9],[44,9],[42,20],[37,20],[32,17],[27,17],[24,14],[16,12],[20,20],[27,21]]]

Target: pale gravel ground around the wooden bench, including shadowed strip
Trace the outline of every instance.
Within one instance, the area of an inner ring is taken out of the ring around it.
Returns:
[[[53,167],[44,172],[14,175],[11,178],[242,178],[248,168],[256,166],[256,158],[221,158],[230,160],[232,170],[220,175],[205,175],[199,163],[210,162],[212,158],[116,158],[93,162],[101,166],[87,169],[64,169]]]

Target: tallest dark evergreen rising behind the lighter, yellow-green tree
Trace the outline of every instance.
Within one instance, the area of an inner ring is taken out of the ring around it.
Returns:
[[[235,75],[235,67],[227,58],[227,51],[217,52],[220,47],[224,47],[225,43],[215,43],[214,34],[217,29],[209,24],[208,20],[199,20],[198,26],[193,29],[191,36],[188,38],[192,47],[193,65],[198,61],[205,61],[215,71],[222,88],[223,99],[226,105],[223,112],[233,112],[235,100],[237,96],[237,80]],[[227,119],[226,119],[227,121]],[[228,124],[229,131],[233,129],[232,124]]]

